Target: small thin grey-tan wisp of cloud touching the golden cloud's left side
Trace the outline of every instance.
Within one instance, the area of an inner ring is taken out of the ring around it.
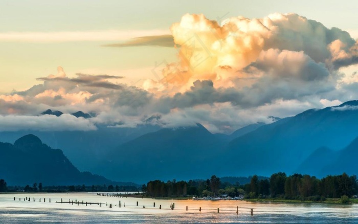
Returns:
[[[124,43],[106,44],[104,47],[137,47],[137,46],[155,46],[155,47],[174,47],[172,35],[142,36],[132,38]]]

